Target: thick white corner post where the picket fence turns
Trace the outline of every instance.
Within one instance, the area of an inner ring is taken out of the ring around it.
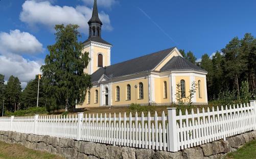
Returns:
[[[177,139],[177,123],[176,123],[176,108],[167,108],[168,110],[168,136],[169,136],[169,149],[171,152],[178,151]]]

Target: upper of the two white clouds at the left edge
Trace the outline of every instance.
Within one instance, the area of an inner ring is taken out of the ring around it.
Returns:
[[[0,33],[0,51],[17,54],[34,54],[43,51],[42,44],[33,35],[20,30]]]

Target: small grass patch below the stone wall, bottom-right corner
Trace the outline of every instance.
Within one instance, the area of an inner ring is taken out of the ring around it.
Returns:
[[[226,159],[255,159],[256,158],[256,140],[246,143],[236,152],[228,153]]]

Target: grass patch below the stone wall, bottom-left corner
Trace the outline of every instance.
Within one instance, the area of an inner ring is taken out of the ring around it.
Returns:
[[[0,159],[64,159],[47,152],[28,149],[18,144],[8,144],[0,141]]]

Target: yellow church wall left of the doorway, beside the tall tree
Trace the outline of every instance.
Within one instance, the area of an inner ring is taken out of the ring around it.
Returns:
[[[95,91],[98,90],[98,103],[95,103]],[[90,88],[90,104],[88,104],[88,91],[85,96],[85,101],[82,105],[78,105],[77,108],[85,107],[100,107],[100,87]]]

